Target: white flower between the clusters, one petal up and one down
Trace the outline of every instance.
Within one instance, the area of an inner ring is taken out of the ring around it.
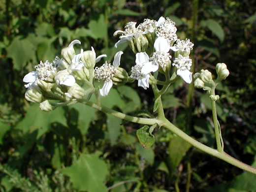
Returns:
[[[111,87],[113,86],[113,81],[111,78],[114,76],[117,67],[120,65],[122,54],[122,51],[116,53],[112,65],[106,62],[101,67],[95,67],[95,78],[98,79],[98,81],[104,80],[103,87],[99,89],[99,94],[101,96],[107,96]]]

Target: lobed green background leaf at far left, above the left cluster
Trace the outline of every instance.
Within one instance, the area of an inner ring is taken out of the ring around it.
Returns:
[[[12,59],[14,69],[21,70],[30,61],[37,63],[35,56],[36,48],[36,45],[30,39],[18,35],[6,48],[7,58]]]

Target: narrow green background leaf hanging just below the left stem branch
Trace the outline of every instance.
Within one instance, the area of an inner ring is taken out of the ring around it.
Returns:
[[[107,129],[111,145],[115,144],[120,134],[121,123],[122,119],[107,114]]]

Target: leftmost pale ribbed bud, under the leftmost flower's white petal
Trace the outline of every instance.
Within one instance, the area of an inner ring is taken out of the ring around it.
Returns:
[[[32,85],[26,91],[25,98],[28,101],[40,103],[43,100],[43,94],[37,85]]]

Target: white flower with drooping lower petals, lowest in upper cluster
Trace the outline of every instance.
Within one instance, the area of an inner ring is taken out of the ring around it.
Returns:
[[[149,73],[144,74],[141,72],[142,67],[149,63],[149,56],[145,52],[136,53],[136,65],[131,67],[130,77],[138,80],[138,86],[144,89],[149,88]]]

